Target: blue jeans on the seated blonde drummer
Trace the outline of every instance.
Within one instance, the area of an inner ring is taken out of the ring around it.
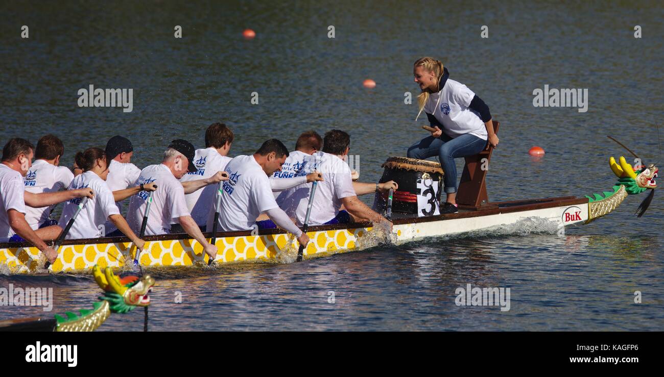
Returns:
[[[465,133],[454,139],[446,134],[440,137],[428,136],[414,143],[408,148],[408,157],[411,159],[428,159],[438,156],[440,166],[445,172],[445,192],[452,194],[456,192],[456,163],[454,159],[477,155],[487,146],[487,141],[475,135]]]

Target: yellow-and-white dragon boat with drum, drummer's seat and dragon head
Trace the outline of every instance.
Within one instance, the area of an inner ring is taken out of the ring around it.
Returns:
[[[497,122],[496,122],[497,123]],[[390,157],[380,182],[396,181],[392,203],[392,232],[374,227],[370,222],[311,226],[307,234],[311,242],[303,258],[362,250],[380,240],[404,244],[429,237],[465,234],[487,230],[523,220],[544,219],[558,229],[574,224],[587,224],[615,210],[629,195],[651,190],[639,206],[641,216],[647,209],[655,188],[658,169],[655,165],[632,167],[624,157],[610,158],[609,165],[618,177],[612,190],[582,197],[563,196],[489,202],[485,187],[492,148],[465,158],[465,167],[457,194],[459,212],[438,214],[442,171],[432,161]],[[374,209],[385,210],[386,198],[376,195]],[[389,233],[389,234],[388,234]],[[210,233],[205,234],[211,238]],[[144,238],[145,250],[139,254],[141,266],[205,265],[208,256],[203,247],[187,234],[165,234]],[[296,240],[280,229],[260,232],[220,232],[216,234],[217,264],[255,262],[293,262],[297,254]],[[84,273],[95,265],[129,269],[135,257],[128,238],[97,238],[66,240],[58,250],[58,258],[44,269],[46,261],[37,248],[27,243],[0,244],[0,273]]]

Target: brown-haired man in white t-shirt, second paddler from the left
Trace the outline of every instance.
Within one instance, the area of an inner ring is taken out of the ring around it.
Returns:
[[[54,135],[44,135],[37,141],[35,162],[23,177],[23,185],[27,192],[41,194],[42,192],[55,192],[69,187],[74,174],[60,165],[60,157],[64,154],[62,140]],[[49,218],[54,206],[25,208],[25,221],[33,230],[44,226],[57,224],[56,220]]]

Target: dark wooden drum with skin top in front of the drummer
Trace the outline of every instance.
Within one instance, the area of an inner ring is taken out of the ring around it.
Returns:
[[[438,194],[436,200],[440,202],[440,193],[443,185],[443,169],[440,163],[434,161],[409,159],[407,157],[390,157],[382,164],[384,171],[379,183],[394,181],[399,185],[392,195],[392,212],[418,214],[417,196],[422,194],[417,187],[418,179],[438,181]],[[376,192],[373,208],[376,212],[384,214],[387,203],[387,194]]]

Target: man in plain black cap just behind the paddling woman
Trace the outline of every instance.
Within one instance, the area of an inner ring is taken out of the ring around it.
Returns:
[[[141,169],[131,163],[131,156],[133,155],[133,145],[126,137],[115,135],[106,143],[106,158],[110,163],[108,164],[108,177],[106,178],[106,185],[111,191],[124,190],[133,186],[138,176],[141,174]],[[116,202],[120,214],[122,214],[122,201]],[[107,221],[104,224],[106,228],[106,236],[124,236],[118,230],[113,222]]]

